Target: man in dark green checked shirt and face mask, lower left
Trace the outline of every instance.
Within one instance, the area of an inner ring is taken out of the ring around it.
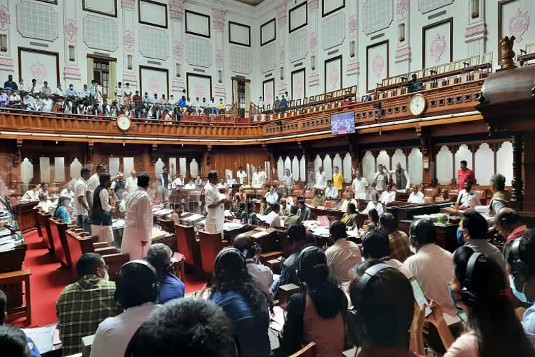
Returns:
[[[93,335],[104,319],[122,312],[115,300],[115,282],[109,281],[108,266],[99,254],[82,255],[76,271],[77,282],[65,287],[56,303],[63,356],[82,352],[82,337]]]

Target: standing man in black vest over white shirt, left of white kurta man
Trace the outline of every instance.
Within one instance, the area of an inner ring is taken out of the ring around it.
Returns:
[[[98,242],[111,243],[114,241],[114,231],[111,229],[111,211],[114,207],[109,204],[108,188],[111,186],[111,176],[102,173],[98,176],[99,185],[93,193],[91,208],[91,234]]]

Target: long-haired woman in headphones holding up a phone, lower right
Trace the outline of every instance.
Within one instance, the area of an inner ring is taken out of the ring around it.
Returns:
[[[453,277],[448,285],[451,301],[456,310],[465,312],[467,329],[455,340],[440,304],[434,301],[427,317],[447,350],[444,357],[535,356],[511,305],[502,268],[469,247],[456,250],[453,264]],[[421,333],[424,309],[417,319],[417,333]],[[424,351],[423,343],[417,348]]]

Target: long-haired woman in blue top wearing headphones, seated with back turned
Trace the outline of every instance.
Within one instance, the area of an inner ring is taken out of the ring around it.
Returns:
[[[231,319],[238,356],[272,356],[267,335],[271,297],[258,288],[245,257],[236,248],[225,248],[215,258],[208,300],[222,307]]]

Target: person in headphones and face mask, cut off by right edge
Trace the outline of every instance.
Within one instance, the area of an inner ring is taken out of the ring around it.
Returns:
[[[514,296],[531,305],[522,316],[522,327],[535,346],[535,229],[525,233],[504,248],[506,272]]]

